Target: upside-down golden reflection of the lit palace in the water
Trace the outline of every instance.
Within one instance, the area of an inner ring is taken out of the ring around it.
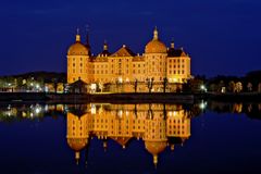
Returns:
[[[142,139],[154,165],[167,147],[190,137],[190,112],[173,104],[86,104],[69,108],[67,144],[78,162],[91,137],[115,140],[123,149],[130,139]]]

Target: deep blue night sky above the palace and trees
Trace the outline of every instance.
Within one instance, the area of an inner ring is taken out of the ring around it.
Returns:
[[[261,69],[260,0],[12,0],[0,5],[0,75],[66,71],[76,28],[90,26],[94,53],[108,40],[142,53],[158,26],[191,57],[192,75],[244,75]],[[83,38],[82,36],[82,38]]]

